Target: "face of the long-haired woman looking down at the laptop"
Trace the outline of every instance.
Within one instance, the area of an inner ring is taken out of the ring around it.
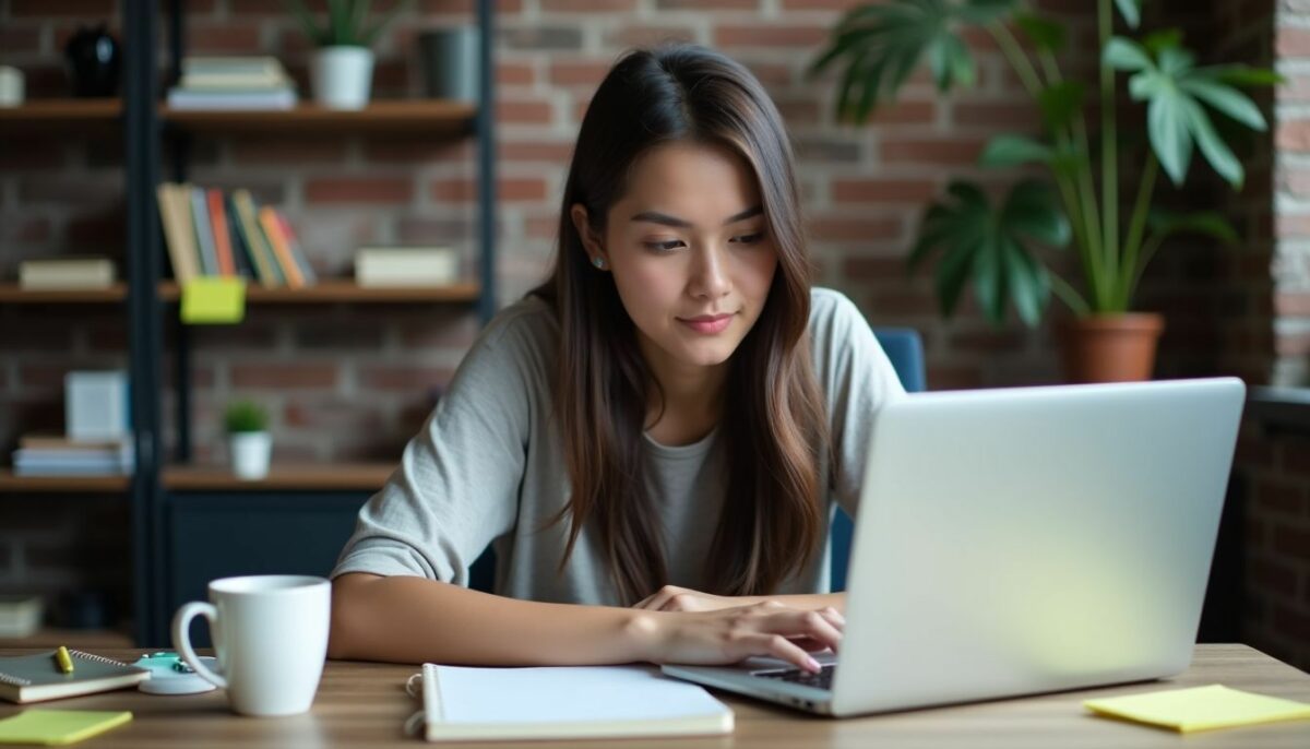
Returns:
[[[732,151],[703,144],[662,145],[638,160],[604,244],[588,245],[614,275],[656,373],[726,363],[760,318],[778,267],[755,173]]]

